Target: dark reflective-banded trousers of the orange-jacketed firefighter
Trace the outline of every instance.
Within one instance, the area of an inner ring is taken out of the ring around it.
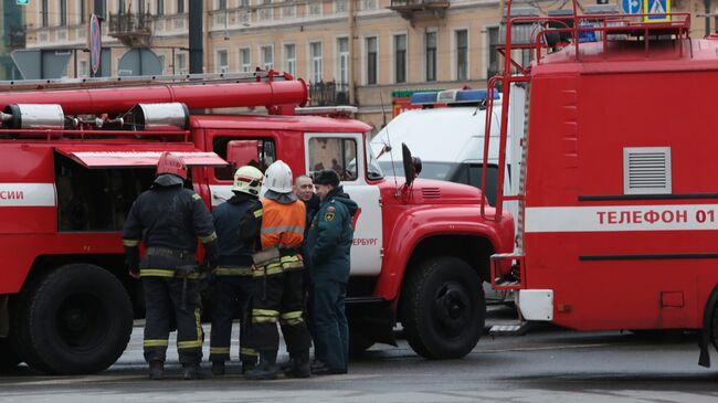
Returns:
[[[312,337],[304,321],[303,268],[254,272],[255,296],[252,301],[251,342],[257,351],[279,349],[279,332],[287,344],[289,356],[308,351]]]

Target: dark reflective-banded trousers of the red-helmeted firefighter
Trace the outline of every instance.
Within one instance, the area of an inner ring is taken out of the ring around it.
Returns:
[[[181,278],[142,276],[145,288],[145,360],[165,361],[172,316],[177,320],[177,353],[184,365],[202,360],[199,282],[187,280],[182,306]]]

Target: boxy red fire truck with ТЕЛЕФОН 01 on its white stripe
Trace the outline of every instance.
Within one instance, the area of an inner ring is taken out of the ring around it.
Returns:
[[[495,287],[516,289],[528,320],[701,330],[699,362],[709,365],[708,346],[718,342],[718,41],[690,39],[689,13],[579,14],[573,1],[568,13],[513,17],[507,7],[500,51],[509,57],[488,88],[501,83],[507,98],[520,84],[530,95],[519,194],[501,193],[499,162],[497,210],[519,200],[519,244],[493,256]],[[510,59],[517,50],[532,53],[530,67]]]

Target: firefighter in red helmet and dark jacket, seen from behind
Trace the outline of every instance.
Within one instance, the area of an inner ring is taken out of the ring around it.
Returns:
[[[163,152],[157,178],[129,210],[123,233],[129,274],[142,280],[146,303],[145,360],[150,379],[162,379],[170,320],[177,321],[177,351],[184,379],[200,375],[202,326],[196,257],[197,241],[207,252],[205,267],[218,261],[212,215],[202,199],[183,188],[187,166],[181,158]],[[139,259],[139,242],[145,257]]]

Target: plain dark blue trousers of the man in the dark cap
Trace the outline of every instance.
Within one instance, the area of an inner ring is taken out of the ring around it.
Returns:
[[[347,285],[313,279],[312,320],[315,357],[334,370],[347,371],[349,325],[345,312]]]

